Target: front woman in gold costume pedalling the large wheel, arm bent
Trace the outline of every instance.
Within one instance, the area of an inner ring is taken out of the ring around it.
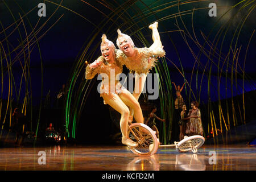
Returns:
[[[143,123],[143,115],[139,102],[116,80],[116,76],[122,73],[122,65],[115,59],[114,43],[102,35],[101,54],[96,61],[86,67],[86,79],[92,79],[96,74],[102,75],[101,97],[106,104],[121,114],[120,127],[122,143],[130,147],[138,146],[137,143],[127,137],[127,126],[129,120],[129,109],[134,109],[134,118],[137,122]],[[114,73],[114,76],[112,76]],[[127,106],[126,106],[127,105]]]

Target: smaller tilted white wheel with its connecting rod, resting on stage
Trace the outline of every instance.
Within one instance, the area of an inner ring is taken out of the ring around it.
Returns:
[[[185,136],[180,142],[174,142],[174,144],[160,145],[159,147],[175,147],[177,151],[184,153],[192,151],[194,154],[197,152],[197,148],[200,148],[204,144],[204,137],[201,135],[193,135],[191,137]]]

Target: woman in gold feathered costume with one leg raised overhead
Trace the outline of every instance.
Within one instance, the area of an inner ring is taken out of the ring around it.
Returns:
[[[154,41],[150,48],[136,48],[129,35],[122,34],[119,29],[117,30],[117,46],[119,48],[116,53],[117,59],[119,63],[125,64],[130,71],[135,71],[133,96],[137,101],[142,93],[147,73],[150,72],[152,67],[155,67],[157,58],[165,55],[158,32],[158,22],[151,24],[148,28],[152,30],[152,39]],[[132,115],[133,111],[131,109],[130,114]]]

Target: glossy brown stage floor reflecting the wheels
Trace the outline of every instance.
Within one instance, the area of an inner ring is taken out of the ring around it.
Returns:
[[[203,145],[197,154],[162,147],[152,156],[137,156],[126,146],[1,147],[0,170],[255,171],[256,147]]]

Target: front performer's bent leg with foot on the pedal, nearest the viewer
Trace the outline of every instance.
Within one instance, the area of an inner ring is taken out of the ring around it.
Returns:
[[[128,118],[130,113],[128,107],[125,105],[125,103],[123,103],[121,98],[117,96],[117,94],[111,94],[111,96],[109,96],[108,94],[104,94],[102,97],[106,104],[110,105],[114,110],[118,111],[118,113],[121,114],[120,128],[122,133],[122,143],[127,144],[131,147],[137,146],[137,143],[133,142],[133,140],[130,140],[127,137]]]

